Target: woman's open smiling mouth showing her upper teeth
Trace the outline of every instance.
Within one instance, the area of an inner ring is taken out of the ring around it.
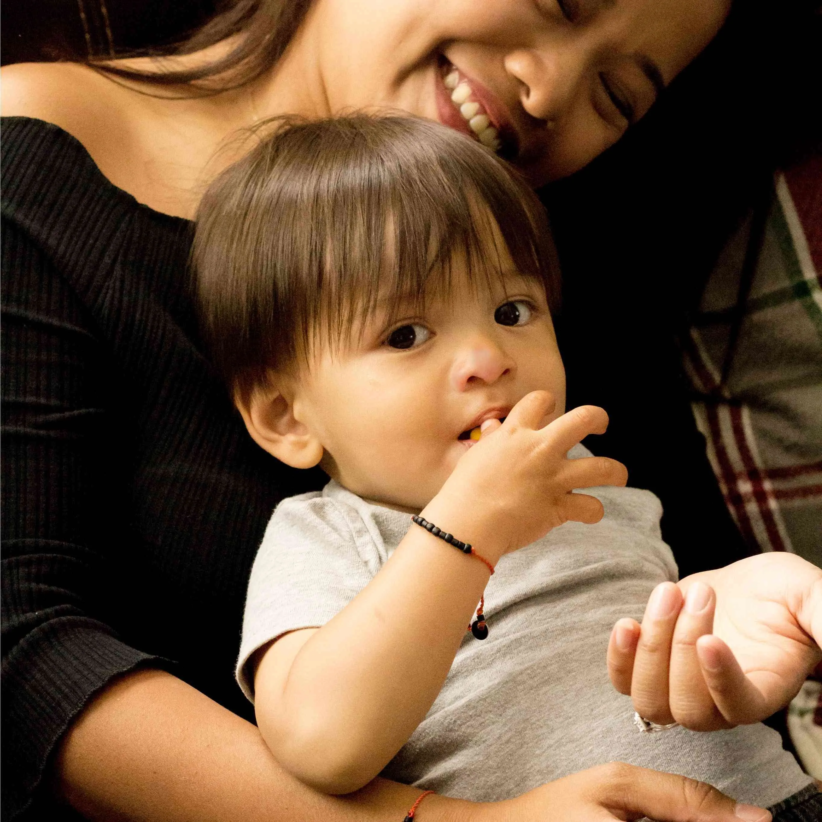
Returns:
[[[483,85],[443,58],[436,73],[436,109],[443,125],[509,155],[515,132],[504,107]],[[514,151],[515,154],[515,151]]]

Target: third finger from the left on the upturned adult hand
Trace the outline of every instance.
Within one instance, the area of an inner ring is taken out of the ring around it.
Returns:
[[[668,704],[673,718],[692,731],[717,731],[730,727],[714,704],[696,653],[696,641],[713,630],[715,607],[713,589],[704,582],[695,581],[686,591],[685,605],[673,632]]]

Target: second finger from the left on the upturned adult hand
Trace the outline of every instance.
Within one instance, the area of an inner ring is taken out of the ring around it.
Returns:
[[[682,594],[672,582],[653,589],[642,617],[640,641],[634,658],[630,695],[640,716],[660,725],[674,721],[668,704],[671,643]]]

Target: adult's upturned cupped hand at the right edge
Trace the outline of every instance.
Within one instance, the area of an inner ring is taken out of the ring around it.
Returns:
[[[820,640],[822,570],[760,554],[658,585],[641,629],[614,626],[608,673],[640,716],[713,731],[790,702],[822,659]]]

